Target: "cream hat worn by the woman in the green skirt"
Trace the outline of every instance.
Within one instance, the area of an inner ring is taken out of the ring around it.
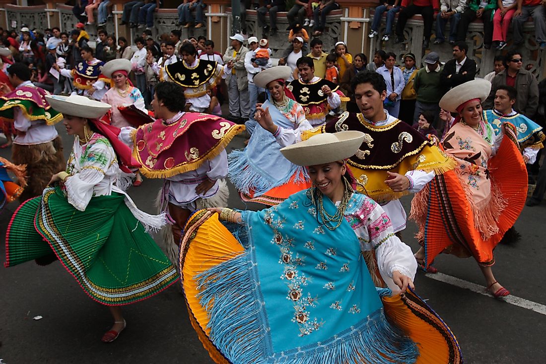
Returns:
[[[112,107],[110,104],[102,103],[86,98],[85,96],[70,95],[46,95],[49,105],[63,115],[98,119],[106,114]]]

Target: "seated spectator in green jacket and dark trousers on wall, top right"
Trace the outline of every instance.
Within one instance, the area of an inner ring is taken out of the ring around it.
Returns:
[[[493,13],[496,8],[497,0],[468,0],[468,7],[462,13],[457,29],[457,41],[465,41],[470,23],[482,19],[483,47],[490,49],[493,41]]]

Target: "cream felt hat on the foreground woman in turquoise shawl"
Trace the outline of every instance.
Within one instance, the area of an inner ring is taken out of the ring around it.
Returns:
[[[336,162],[354,156],[365,134],[355,130],[339,133],[323,133],[284,147],[284,158],[296,165],[308,166]]]

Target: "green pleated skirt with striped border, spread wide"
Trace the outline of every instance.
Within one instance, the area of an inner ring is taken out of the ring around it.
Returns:
[[[153,296],[176,282],[178,273],[123,199],[118,193],[93,197],[79,211],[60,188],[46,188],[11,217],[4,265],[38,261],[53,251],[81,288],[104,305]]]

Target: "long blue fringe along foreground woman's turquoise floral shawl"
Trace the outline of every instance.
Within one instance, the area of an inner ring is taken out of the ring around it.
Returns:
[[[417,345],[391,325],[383,309],[320,344],[268,353],[262,323],[265,308],[256,299],[252,262],[247,254],[225,261],[195,276],[201,305],[209,314],[210,338],[236,364],[414,363]],[[390,295],[389,289],[378,289]]]

